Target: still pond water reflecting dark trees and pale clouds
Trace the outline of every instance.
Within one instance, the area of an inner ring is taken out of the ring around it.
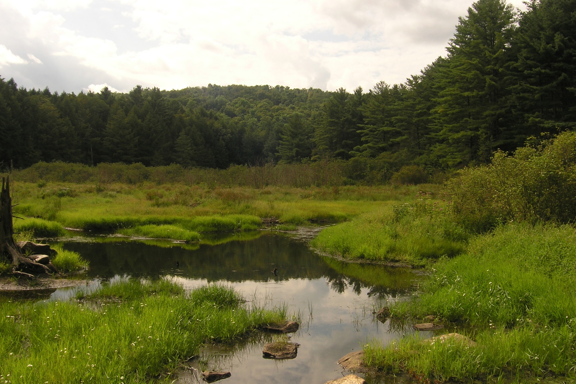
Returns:
[[[170,242],[105,237],[67,241],[64,246],[89,261],[89,288],[103,279],[173,276],[186,288],[207,282],[229,284],[249,300],[268,305],[283,302],[292,313],[300,313],[301,329],[291,341],[301,347],[293,360],[263,359],[263,339],[228,349],[206,348],[207,366],[202,368],[229,370],[232,377],[227,383],[321,384],[347,374],[336,361],[361,349],[367,340],[387,344],[401,336],[388,323],[376,320],[373,311],[386,301],[406,298],[418,280],[416,273],[321,257],[301,239],[282,234],[260,232],[253,237],[225,244],[215,238],[215,245],[189,249]],[[274,268],[277,276],[271,272]],[[77,289],[60,288],[50,299],[66,299]],[[189,372],[181,371],[180,376],[181,383],[196,382]]]

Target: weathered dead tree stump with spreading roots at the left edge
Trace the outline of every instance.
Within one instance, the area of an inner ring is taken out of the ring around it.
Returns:
[[[36,263],[36,258],[22,253],[20,246],[14,242],[12,225],[12,197],[10,197],[10,176],[2,177],[0,191],[0,257],[12,260],[12,272],[16,276],[33,277],[38,273],[51,273],[47,265]]]

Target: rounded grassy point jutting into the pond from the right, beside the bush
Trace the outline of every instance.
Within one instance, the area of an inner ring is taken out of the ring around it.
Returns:
[[[468,235],[448,216],[398,217],[388,204],[350,222],[328,227],[311,245],[348,260],[425,265],[430,259],[453,257],[464,251]]]

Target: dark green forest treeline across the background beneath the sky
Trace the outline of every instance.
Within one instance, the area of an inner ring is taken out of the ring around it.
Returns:
[[[446,57],[367,93],[209,85],[76,95],[2,79],[0,161],[226,169],[361,159],[388,177],[405,165],[434,174],[486,164],[530,136],[574,129],[575,12],[575,0],[532,1],[522,13],[479,0]]]

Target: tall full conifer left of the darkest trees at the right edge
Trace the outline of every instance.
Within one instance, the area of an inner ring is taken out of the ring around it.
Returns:
[[[459,19],[448,59],[439,63],[439,151],[450,166],[487,160],[492,147],[506,144],[515,17],[504,0],[473,3]]]

